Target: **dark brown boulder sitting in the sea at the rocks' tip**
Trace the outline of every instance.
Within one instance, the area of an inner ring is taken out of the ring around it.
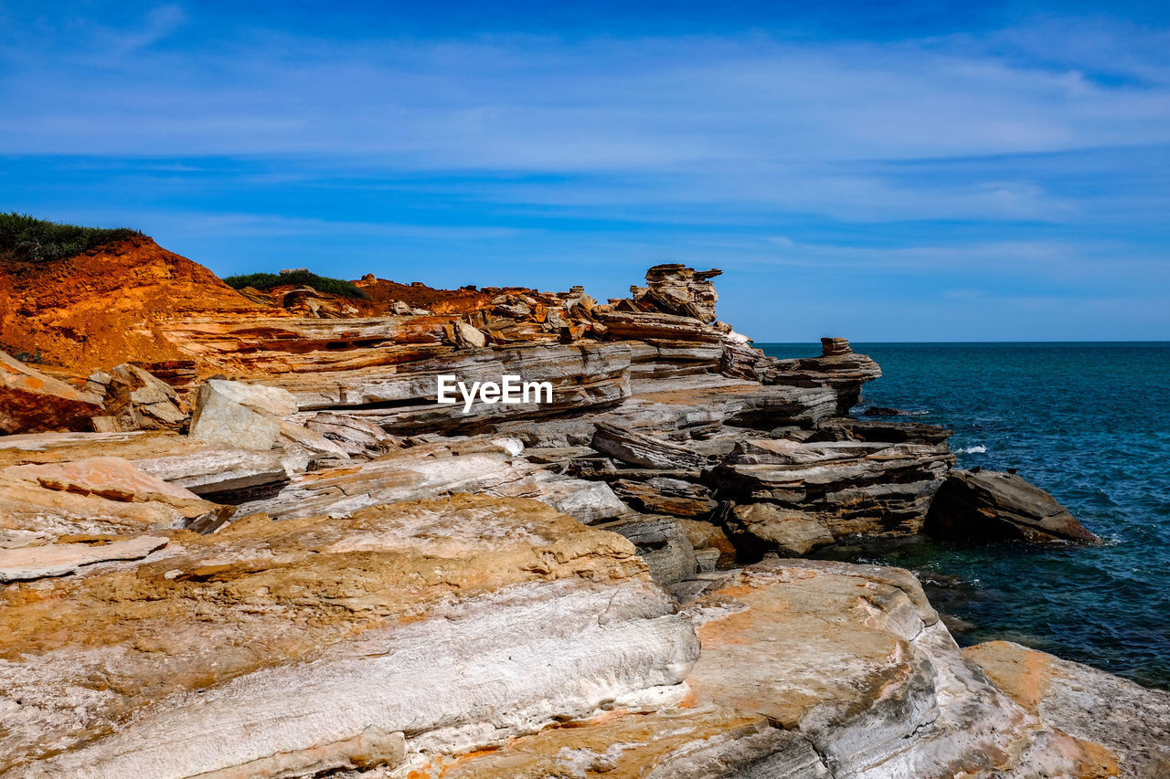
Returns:
[[[1054,497],[1017,474],[954,470],[930,503],[925,530],[975,542],[1079,542],[1100,538]]]

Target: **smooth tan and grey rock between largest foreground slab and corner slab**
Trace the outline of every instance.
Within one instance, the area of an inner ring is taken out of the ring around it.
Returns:
[[[688,611],[695,695],[799,733],[834,777],[1107,775],[963,657],[907,571],[762,563]]]

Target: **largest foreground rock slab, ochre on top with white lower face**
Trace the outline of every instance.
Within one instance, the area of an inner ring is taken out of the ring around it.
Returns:
[[[467,752],[677,702],[698,652],[628,542],[483,497],[256,518],[137,566],[9,584],[0,604],[6,777]]]

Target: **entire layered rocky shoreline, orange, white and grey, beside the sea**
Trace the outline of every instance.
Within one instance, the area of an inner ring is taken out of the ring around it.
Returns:
[[[149,239],[5,269],[0,344],[44,364],[0,356],[0,777],[1170,774],[1170,694],[803,559],[1097,539],[848,416],[878,364],[765,357],[718,275],[236,292]],[[442,375],[551,400],[464,413]]]

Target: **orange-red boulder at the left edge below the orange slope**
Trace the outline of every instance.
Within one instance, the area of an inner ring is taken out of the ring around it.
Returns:
[[[102,398],[0,352],[0,434],[90,430]]]

